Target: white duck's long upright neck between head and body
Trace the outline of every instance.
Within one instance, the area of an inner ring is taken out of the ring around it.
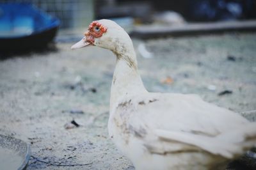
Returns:
[[[138,73],[133,47],[114,53],[116,55],[116,68],[111,86],[110,108],[126,96],[147,92]]]

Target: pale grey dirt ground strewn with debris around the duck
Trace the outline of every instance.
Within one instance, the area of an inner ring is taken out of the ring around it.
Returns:
[[[154,56],[138,52],[148,91],[256,109],[256,33],[134,40],[134,47],[140,43]],[[0,61],[0,133],[31,143],[28,169],[134,169],[108,137],[114,55],[71,45]]]

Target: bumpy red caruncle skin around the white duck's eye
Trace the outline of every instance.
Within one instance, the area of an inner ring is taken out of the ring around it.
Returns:
[[[88,31],[84,33],[86,36],[86,41],[90,43],[94,43],[94,38],[99,38],[106,33],[107,27],[103,26],[97,20],[93,21],[88,27]]]

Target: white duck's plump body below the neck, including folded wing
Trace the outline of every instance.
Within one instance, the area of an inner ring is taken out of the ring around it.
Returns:
[[[110,135],[135,166],[145,159],[151,167],[163,162],[167,169],[179,169],[180,158],[190,166],[202,161],[209,169],[255,142],[255,125],[196,95],[143,93],[124,98],[112,111]],[[246,136],[252,137],[248,143]]]

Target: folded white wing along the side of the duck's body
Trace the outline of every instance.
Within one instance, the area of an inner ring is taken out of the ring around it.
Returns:
[[[115,111],[125,130],[152,153],[204,150],[231,158],[252,146],[237,144],[256,135],[254,124],[248,127],[243,117],[196,95],[146,93],[125,99]]]

